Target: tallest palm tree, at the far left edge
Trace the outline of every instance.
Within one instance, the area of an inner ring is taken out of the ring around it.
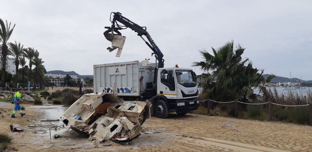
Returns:
[[[6,21],[6,24],[3,22],[3,20],[0,18],[0,39],[1,39],[1,61],[2,61],[2,73],[6,71],[7,67],[7,55],[8,55],[8,47],[7,42],[9,41],[11,34],[13,32],[13,29],[15,27],[15,24],[11,28],[11,22],[8,24]],[[1,81],[0,81],[0,87],[5,87],[5,80],[4,80],[4,74],[1,75]]]

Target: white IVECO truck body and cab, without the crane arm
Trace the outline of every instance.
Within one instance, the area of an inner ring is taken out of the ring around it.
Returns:
[[[154,64],[139,61],[94,65],[94,90],[115,94],[127,101],[152,102],[153,114],[168,117],[169,112],[184,115],[198,108],[195,73],[190,68],[158,68],[154,84]],[[157,88],[156,88],[157,87]]]

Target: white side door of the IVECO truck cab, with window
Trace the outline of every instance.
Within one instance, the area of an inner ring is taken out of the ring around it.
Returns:
[[[159,78],[160,83],[158,83],[157,94],[164,95],[167,97],[167,99],[177,99],[177,90],[175,87],[173,70],[163,69],[162,71],[160,71]]]

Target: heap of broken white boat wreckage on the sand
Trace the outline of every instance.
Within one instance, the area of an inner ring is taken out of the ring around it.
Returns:
[[[72,104],[61,119],[66,127],[53,137],[69,129],[82,135],[89,135],[94,143],[113,140],[129,142],[138,137],[142,124],[150,118],[149,101],[125,102],[113,94],[90,93]]]

